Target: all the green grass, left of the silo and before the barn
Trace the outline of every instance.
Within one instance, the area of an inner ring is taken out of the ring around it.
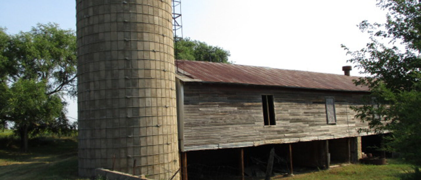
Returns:
[[[0,131],[0,180],[88,180],[77,177],[75,137],[39,137],[30,140],[29,153],[21,153],[19,139]],[[272,180],[406,180],[412,167],[397,159],[388,165],[350,164],[294,177]]]

